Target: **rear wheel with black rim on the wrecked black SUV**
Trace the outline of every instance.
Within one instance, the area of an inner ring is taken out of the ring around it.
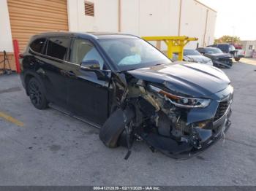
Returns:
[[[48,102],[45,98],[45,94],[43,93],[42,85],[40,82],[31,78],[28,83],[28,93],[31,103],[37,109],[46,109],[48,106]]]

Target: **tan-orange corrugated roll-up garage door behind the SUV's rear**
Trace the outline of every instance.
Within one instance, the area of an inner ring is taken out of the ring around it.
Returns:
[[[8,0],[12,39],[24,50],[31,35],[68,31],[67,0]]]

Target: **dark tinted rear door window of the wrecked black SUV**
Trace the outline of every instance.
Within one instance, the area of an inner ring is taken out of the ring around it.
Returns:
[[[64,60],[69,49],[69,42],[70,39],[68,38],[49,38],[46,55]]]

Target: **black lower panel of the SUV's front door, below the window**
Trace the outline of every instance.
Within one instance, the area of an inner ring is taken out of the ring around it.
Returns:
[[[73,65],[69,70],[71,75],[67,75],[69,110],[102,125],[108,118],[108,80],[99,80],[94,72],[69,64]]]

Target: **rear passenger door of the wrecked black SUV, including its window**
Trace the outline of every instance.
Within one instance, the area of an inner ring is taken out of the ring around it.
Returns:
[[[68,37],[48,37],[40,63],[48,101],[64,108],[67,108],[66,57],[69,46]]]

